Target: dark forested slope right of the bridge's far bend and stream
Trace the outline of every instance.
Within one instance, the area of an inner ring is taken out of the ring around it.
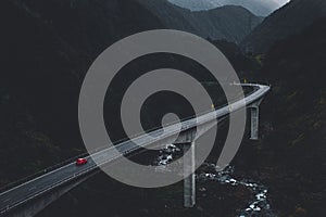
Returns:
[[[326,17],[277,42],[254,76],[272,84],[262,105],[256,159],[279,216],[324,216],[326,208]],[[246,159],[244,159],[246,161]],[[268,171],[269,168],[269,171]],[[304,215],[299,215],[300,210]]]

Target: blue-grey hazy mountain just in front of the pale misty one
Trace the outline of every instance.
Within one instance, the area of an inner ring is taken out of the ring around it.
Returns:
[[[185,30],[213,40],[225,39],[239,43],[261,17],[241,7],[223,7],[210,11],[191,12],[166,0],[138,0],[172,29]]]

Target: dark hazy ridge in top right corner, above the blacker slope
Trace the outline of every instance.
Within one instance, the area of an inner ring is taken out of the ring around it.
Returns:
[[[325,0],[292,0],[264,20],[241,43],[244,50],[266,52],[277,40],[300,33],[326,16]]]

